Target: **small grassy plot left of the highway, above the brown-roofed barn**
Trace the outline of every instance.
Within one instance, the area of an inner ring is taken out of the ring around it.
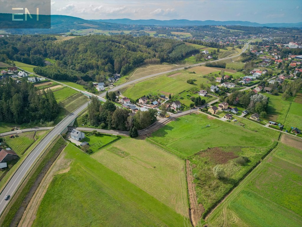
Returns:
[[[14,152],[16,152],[18,155],[23,155],[31,144],[35,142],[34,134],[35,132],[25,132],[20,133],[18,137],[9,138],[9,136],[6,136],[4,139]]]

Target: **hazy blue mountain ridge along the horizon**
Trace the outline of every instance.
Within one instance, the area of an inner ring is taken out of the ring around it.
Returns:
[[[109,22],[118,23],[124,25],[159,25],[159,26],[198,26],[198,25],[241,25],[241,26],[265,26],[265,27],[302,27],[302,22],[299,23],[270,23],[270,24],[259,24],[249,21],[190,21],[190,20],[131,20],[128,18],[124,19],[107,19],[107,20],[90,20],[98,22]]]

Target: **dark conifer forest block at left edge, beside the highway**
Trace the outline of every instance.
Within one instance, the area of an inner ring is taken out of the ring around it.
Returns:
[[[38,91],[33,84],[16,83],[11,77],[0,81],[0,122],[43,123],[54,120],[59,110],[50,89]]]

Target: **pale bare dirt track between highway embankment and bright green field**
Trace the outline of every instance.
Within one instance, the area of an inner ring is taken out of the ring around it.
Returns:
[[[64,159],[64,157],[65,152],[63,150],[58,159],[50,167],[34,193],[34,196],[31,198],[31,201],[29,202],[18,227],[27,227],[33,224],[34,219],[36,219],[37,210],[53,177],[57,174],[62,174],[69,171],[71,160]]]

